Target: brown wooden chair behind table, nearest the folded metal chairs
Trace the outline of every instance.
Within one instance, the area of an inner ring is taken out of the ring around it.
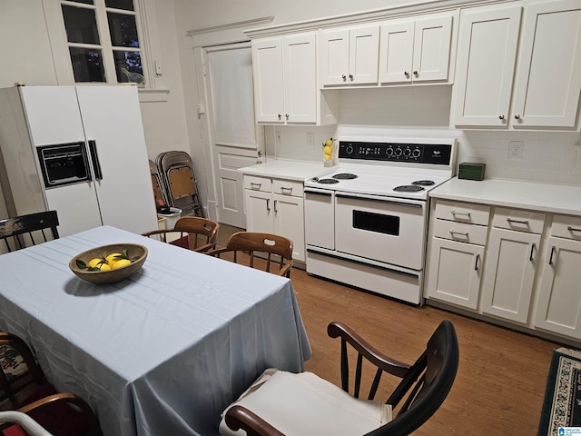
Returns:
[[[198,216],[182,216],[172,229],[142,233],[164,243],[172,243],[194,252],[204,253],[216,247],[220,224]]]

